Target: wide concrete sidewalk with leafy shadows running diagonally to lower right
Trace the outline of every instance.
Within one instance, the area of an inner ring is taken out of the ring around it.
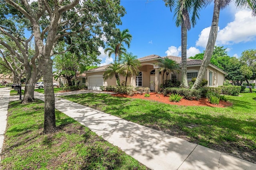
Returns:
[[[44,101],[44,94],[35,93],[35,98]],[[90,128],[150,169],[256,170],[256,164],[251,162],[65,99],[56,97],[55,108]]]

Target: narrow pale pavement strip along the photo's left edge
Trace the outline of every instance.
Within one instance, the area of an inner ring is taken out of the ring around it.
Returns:
[[[7,113],[10,99],[10,89],[0,88],[0,153],[4,144],[4,133],[7,125]],[[1,157],[0,157],[1,161]]]

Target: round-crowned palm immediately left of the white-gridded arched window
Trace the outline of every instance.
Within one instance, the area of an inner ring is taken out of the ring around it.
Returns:
[[[122,56],[122,71],[124,71],[125,77],[125,86],[127,83],[127,78],[129,74],[138,75],[140,72],[139,67],[141,66],[140,61],[137,59],[136,55],[132,55],[132,53],[125,53]]]

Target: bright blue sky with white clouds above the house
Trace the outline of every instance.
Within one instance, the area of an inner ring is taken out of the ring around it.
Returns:
[[[175,26],[173,12],[165,7],[162,0],[121,0],[127,14],[122,18],[120,30],[128,28],[132,42],[128,52],[138,58],[156,54],[181,56],[180,27]],[[213,3],[200,11],[197,25],[188,31],[187,57],[205,50],[212,22]],[[240,57],[246,49],[256,49],[256,18],[248,9],[237,9],[234,4],[221,10],[216,45],[227,48],[228,55]],[[113,62],[102,54],[101,65]],[[114,57],[114,56],[113,56]]]

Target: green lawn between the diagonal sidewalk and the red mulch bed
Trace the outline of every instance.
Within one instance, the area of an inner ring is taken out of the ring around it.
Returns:
[[[232,107],[168,105],[87,93],[64,99],[256,163],[256,93],[226,96]]]

